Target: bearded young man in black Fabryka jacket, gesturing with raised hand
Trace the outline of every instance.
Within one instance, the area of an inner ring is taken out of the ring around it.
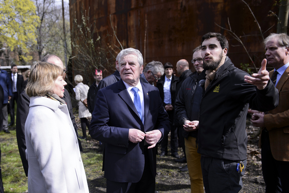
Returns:
[[[229,44],[219,33],[202,37],[206,80],[200,107],[198,153],[206,193],[239,192],[247,159],[248,107],[269,111],[278,105],[278,90],[269,80],[266,59],[252,77],[227,57]]]

